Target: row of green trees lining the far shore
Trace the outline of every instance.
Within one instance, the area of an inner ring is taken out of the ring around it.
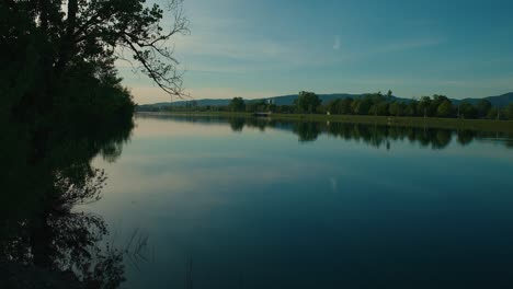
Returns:
[[[322,102],[314,92],[299,92],[293,105],[276,105],[272,100],[251,101],[233,97],[226,106],[198,106],[191,102],[182,107],[171,107],[173,112],[272,112],[281,114],[329,114],[329,115],[372,115],[372,116],[409,116],[444,118],[486,118],[513,119],[513,104],[506,107],[494,107],[488,100],[477,104],[468,102],[453,103],[447,96],[435,94],[420,100],[399,101],[387,94],[372,93],[358,99],[337,99]]]

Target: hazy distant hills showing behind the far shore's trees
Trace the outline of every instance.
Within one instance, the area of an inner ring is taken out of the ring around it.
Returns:
[[[361,99],[367,95],[366,93],[363,94],[349,94],[349,93],[333,93],[333,94],[319,94],[319,97],[322,100],[323,103],[327,103],[331,100],[337,100],[337,99]],[[282,95],[282,96],[272,96],[272,97],[266,97],[266,99],[259,99],[259,100],[246,100],[247,102],[260,102],[260,101],[266,101],[266,100],[273,100],[276,105],[292,105],[294,104],[294,101],[298,97],[297,94],[289,94],[289,95]],[[402,101],[402,102],[410,102],[411,99],[403,99],[403,97],[398,97],[398,96],[391,96],[392,100],[395,101]],[[176,107],[183,107],[187,104],[191,104],[192,102],[195,102],[197,106],[225,106],[230,103],[231,99],[221,99],[221,100],[191,100],[191,101],[176,101],[176,102],[164,102],[164,103],[155,103],[155,104],[144,104],[144,105],[138,105],[137,111],[139,112],[151,112],[151,111],[160,111],[162,108],[171,107],[171,106],[176,106]],[[454,104],[459,104],[463,102],[468,102],[471,104],[477,104],[481,100],[488,100],[493,106],[499,106],[499,107],[504,107],[510,103],[513,103],[513,92],[498,95],[498,96],[487,96],[482,99],[464,99],[464,100],[454,100],[452,99],[451,101]]]

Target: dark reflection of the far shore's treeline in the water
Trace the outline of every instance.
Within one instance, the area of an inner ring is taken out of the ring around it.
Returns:
[[[138,117],[172,119],[173,122],[208,124],[229,124],[235,132],[244,127],[264,131],[267,128],[292,131],[299,142],[316,141],[319,136],[328,135],[344,140],[357,140],[375,148],[391,149],[392,141],[407,140],[419,143],[422,148],[444,149],[456,141],[467,146],[476,139],[500,140],[508,148],[513,148],[513,134],[499,131],[457,130],[432,127],[400,127],[386,125],[331,123],[331,122],[293,122],[272,118],[244,118],[224,116],[194,116],[169,114],[139,114]],[[503,141],[502,141],[503,140]]]

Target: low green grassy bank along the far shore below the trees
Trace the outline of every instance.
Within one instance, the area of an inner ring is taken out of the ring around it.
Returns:
[[[187,116],[226,116],[226,117],[253,117],[251,113],[230,112],[171,112],[171,115]],[[432,127],[446,129],[468,129],[482,131],[513,132],[513,120],[491,119],[458,119],[436,117],[394,117],[394,116],[368,116],[368,115],[321,115],[321,114],[272,114],[276,120],[305,120],[305,122],[333,122],[355,123],[372,125],[389,125],[402,127]]]

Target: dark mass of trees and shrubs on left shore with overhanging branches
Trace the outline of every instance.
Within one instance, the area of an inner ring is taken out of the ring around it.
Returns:
[[[98,201],[134,128],[135,104],[114,62],[129,60],[181,94],[166,43],[187,32],[182,1],[0,2],[0,288],[118,288],[129,248],[109,243]],[[174,22],[173,22],[174,21]],[[169,23],[168,23],[169,24]],[[138,245],[138,248],[141,246]]]

